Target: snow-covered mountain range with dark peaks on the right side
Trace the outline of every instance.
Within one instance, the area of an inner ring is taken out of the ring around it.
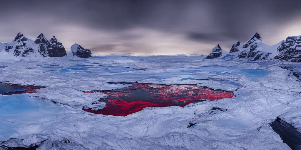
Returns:
[[[218,45],[219,47],[219,45]],[[248,59],[248,60],[290,60],[301,62],[301,36],[290,36],[277,44],[269,46],[264,44],[258,33],[251,36],[243,45],[237,41],[233,44],[230,52],[220,51],[216,55],[214,50],[206,58],[222,58],[222,59]],[[221,48],[220,48],[221,49]],[[212,57],[212,56],[216,57]]]

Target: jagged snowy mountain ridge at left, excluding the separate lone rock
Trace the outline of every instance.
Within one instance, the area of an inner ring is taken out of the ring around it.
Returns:
[[[7,43],[0,43],[0,52],[7,52],[13,56],[42,56],[42,57],[63,57],[67,52],[57,39],[53,38],[48,41],[41,33],[38,38],[33,41],[26,38],[19,32],[13,41]]]

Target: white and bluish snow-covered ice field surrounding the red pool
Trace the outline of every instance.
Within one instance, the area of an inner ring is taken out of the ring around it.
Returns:
[[[0,141],[16,138],[6,146],[36,144],[38,150],[290,149],[269,126],[281,115],[301,129],[296,118],[301,116],[300,80],[288,76],[289,70],[277,66],[281,63],[185,55],[2,57],[0,82],[47,87],[0,95]],[[107,82],[136,81],[198,84],[233,91],[236,97],[147,107],[125,117],[82,110],[106,97],[82,91],[123,88],[130,85]],[[211,111],[213,107],[227,111]],[[187,128],[188,122],[198,123]]]

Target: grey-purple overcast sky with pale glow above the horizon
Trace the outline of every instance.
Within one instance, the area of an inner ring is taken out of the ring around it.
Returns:
[[[301,35],[299,0],[1,0],[0,41],[53,35],[94,55],[208,54],[259,33],[269,45]]]

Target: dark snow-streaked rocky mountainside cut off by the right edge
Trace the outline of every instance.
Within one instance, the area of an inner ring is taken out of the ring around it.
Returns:
[[[301,36],[289,36],[277,48],[274,59],[301,62]]]

